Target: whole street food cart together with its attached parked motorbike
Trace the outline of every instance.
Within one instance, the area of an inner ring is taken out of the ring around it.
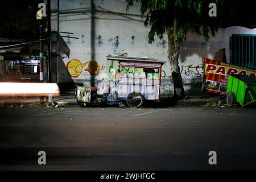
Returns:
[[[113,71],[115,76],[110,78],[114,84],[109,84],[109,88],[98,86],[97,89],[89,90],[79,86],[77,102],[80,105],[86,102],[88,106],[100,100],[101,104],[104,102],[104,104],[113,105],[125,102],[130,107],[141,107],[145,100],[159,100],[162,66],[166,61],[115,55],[109,55],[106,59],[118,62],[118,68]],[[95,94],[96,90],[109,90],[109,92],[104,92],[104,97],[101,99],[88,99],[88,96],[93,95],[92,92],[94,92],[94,98],[100,97],[98,92]]]

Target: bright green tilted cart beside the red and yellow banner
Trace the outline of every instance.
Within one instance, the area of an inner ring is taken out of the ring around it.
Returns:
[[[238,102],[242,107],[256,104],[256,80],[246,75],[229,75],[226,88],[226,104],[232,107]]]

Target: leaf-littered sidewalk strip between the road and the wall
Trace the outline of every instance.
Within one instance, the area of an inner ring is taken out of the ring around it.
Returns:
[[[168,102],[167,100],[168,96],[161,97],[161,101]],[[207,105],[207,104],[218,104],[221,103],[222,105],[226,104],[226,101],[224,100],[224,96],[188,96],[188,100],[180,100],[177,101],[177,106],[201,106],[201,105]],[[46,99],[44,99],[46,101]],[[59,97],[54,97],[53,101],[55,104],[59,105],[77,105],[76,96],[75,95],[69,95],[69,94],[61,94]],[[35,104],[40,102],[40,97],[29,97],[26,99],[15,99],[15,100],[8,100],[8,101],[1,101],[0,100],[0,107],[4,107],[6,105],[11,105],[13,103],[16,104]],[[154,106],[155,104],[152,104]],[[158,102],[158,106],[161,105],[161,102]],[[78,105],[77,105],[78,106]],[[150,106],[150,105],[148,105]]]

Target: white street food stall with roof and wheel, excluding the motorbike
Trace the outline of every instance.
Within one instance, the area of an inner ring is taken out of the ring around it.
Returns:
[[[144,100],[159,100],[162,65],[166,61],[143,58],[107,56],[118,61],[118,100],[126,100],[130,107],[140,107]]]

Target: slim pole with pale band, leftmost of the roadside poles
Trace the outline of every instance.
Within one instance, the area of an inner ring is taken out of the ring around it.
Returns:
[[[40,82],[44,81],[44,77],[43,77],[43,71],[44,71],[44,41],[43,41],[43,20],[40,20],[40,53],[39,53],[39,68],[40,68]],[[40,97],[40,103],[42,104],[44,102],[44,97]]]

